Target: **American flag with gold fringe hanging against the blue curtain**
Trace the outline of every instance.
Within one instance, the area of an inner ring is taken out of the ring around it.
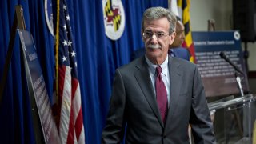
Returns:
[[[55,58],[59,137],[62,143],[85,143],[76,51],[66,0],[59,0],[57,7]]]

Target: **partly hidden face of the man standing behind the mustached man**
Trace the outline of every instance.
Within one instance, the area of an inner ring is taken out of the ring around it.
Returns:
[[[170,48],[177,48],[182,46],[182,43],[185,40],[184,34],[184,26],[182,22],[178,21],[176,23],[176,37],[174,38],[174,43],[170,46]]]

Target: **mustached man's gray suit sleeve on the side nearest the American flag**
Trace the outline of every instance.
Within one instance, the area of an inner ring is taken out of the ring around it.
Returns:
[[[122,75],[116,70],[102,143],[120,143],[125,131],[126,92]]]

